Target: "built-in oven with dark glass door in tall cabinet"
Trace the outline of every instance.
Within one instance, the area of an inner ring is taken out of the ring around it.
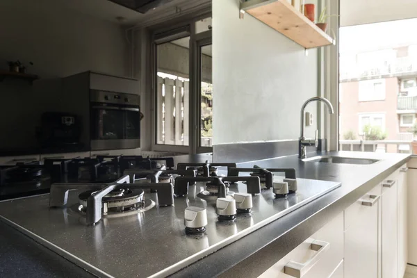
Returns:
[[[90,90],[91,149],[140,147],[140,97]]]

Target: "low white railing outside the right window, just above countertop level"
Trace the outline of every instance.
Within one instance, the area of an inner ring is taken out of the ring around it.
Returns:
[[[341,151],[352,152],[398,152],[411,154],[413,148],[411,140],[339,140]],[[395,146],[395,147],[390,147]]]

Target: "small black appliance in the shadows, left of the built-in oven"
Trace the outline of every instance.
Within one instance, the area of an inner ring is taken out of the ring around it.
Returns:
[[[80,145],[81,121],[72,113],[42,113],[38,134],[40,145],[45,147],[76,147]]]

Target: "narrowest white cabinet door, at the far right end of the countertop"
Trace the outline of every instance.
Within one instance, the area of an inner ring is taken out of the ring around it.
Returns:
[[[407,165],[398,175],[398,277],[403,277],[407,267]]]

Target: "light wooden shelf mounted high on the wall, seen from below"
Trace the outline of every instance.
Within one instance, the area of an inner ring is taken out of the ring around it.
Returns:
[[[245,10],[306,49],[333,43],[329,35],[286,0],[250,0],[240,3],[240,10]]]

